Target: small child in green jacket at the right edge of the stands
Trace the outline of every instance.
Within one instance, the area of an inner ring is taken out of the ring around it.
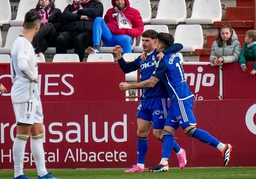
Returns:
[[[255,61],[251,75],[256,73],[256,31],[246,32],[244,48],[239,56],[239,64],[243,72],[246,72],[246,61]]]

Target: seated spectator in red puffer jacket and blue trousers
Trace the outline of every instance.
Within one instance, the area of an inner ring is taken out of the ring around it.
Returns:
[[[93,28],[94,46],[88,53],[99,53],[100,39],[105,46],[120,45],[123,54],[131,53],[133,37],[141,36],[144,26],[140,12],[130,7],[129,0],[112,0],[113,8],[104,16],[97,17]]]

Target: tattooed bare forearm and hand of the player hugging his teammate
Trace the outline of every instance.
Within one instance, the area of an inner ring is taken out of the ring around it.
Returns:
[[[126,91],[129,89],[141,89],[141,88],[147,88],[147,87],[154,87],[157,82],[159,82],[159,78],[157,77],[150,77],[148,80],[145,80],[143,82],[139,82],[136,84],[127,84],[125,82],[121,82],[119,85],[120,90]]]

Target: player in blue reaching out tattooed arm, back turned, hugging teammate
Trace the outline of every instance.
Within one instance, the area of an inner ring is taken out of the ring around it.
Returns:
[[[156,43],[157,51],[163,51],[167,46],[171,46],[173,41],[172,35],[168,33],[158,33]],[[152,77],[148,80],[136,84],[121,82],[120,89],[152,88],[159,82],[165,84],[169,97],[171,98],[171,106],[168,110],[168,116],[163,131],[162,160],[160,164],[147,171],[164,171],[167,168],[168,159],[170,158],[173,148],[173,136],[179,126],[188,137],[197,138],[199,141],[217,148],[223,156],[223,165],[226,166],[230,160],[232,146],[230,144],[221,143],[208,132],[196,128],[197,122],[192,109],[194,95],[186,83],[183,67],[177,52],[166,54],[162,60],[158,61]]]

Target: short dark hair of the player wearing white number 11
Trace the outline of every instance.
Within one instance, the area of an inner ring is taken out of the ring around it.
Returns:
[[[36,11],[28,11],[23,23],[24,29],[33,29],[41,21],[41,16]]]

